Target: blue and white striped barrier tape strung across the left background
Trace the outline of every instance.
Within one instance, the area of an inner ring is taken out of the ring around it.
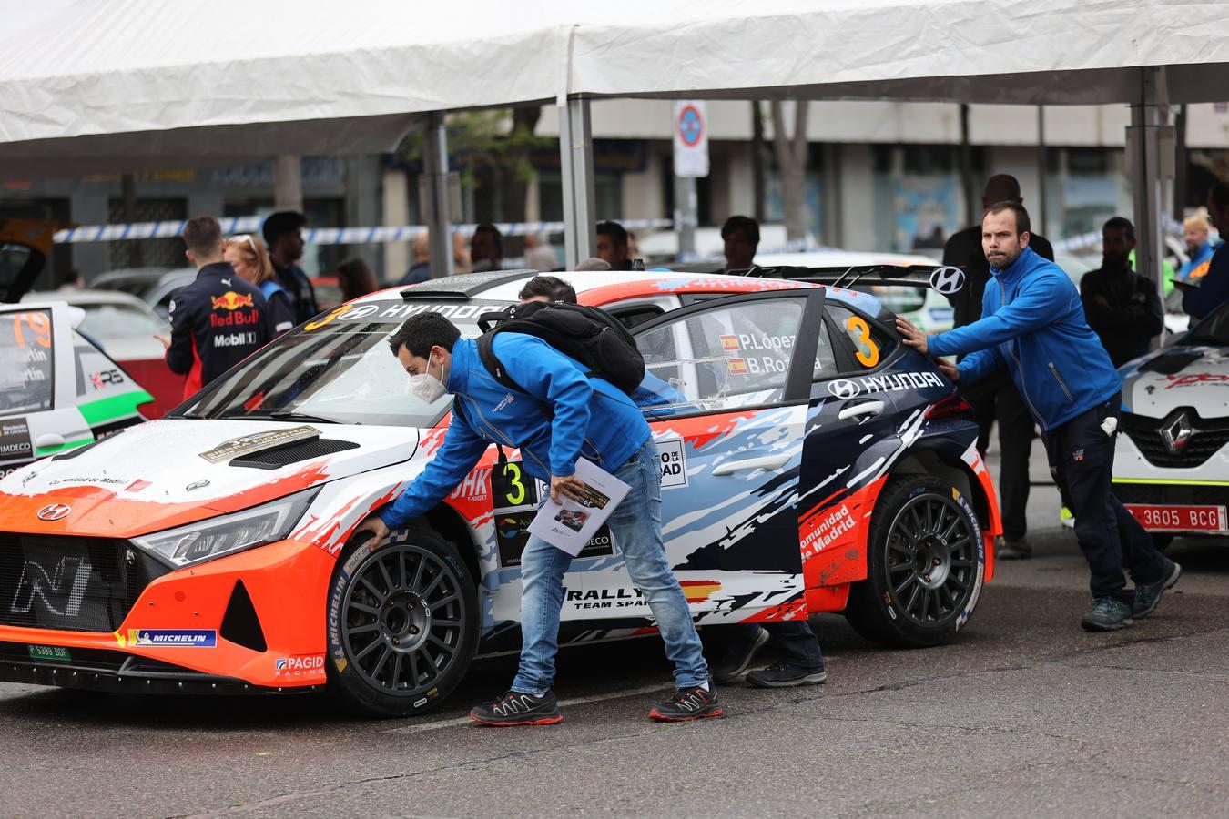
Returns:
[[[235,216],[218,220],[222,233],[259,235],[262,216]],[[673,227],[669,219],[629,219],[619,222],[628,230],[653,230]],[[125,222],[119,225],[82,225],[55,233],[60,244],[82,242],[127,242],[133,239],[172,238],[183,232],[183,221]],[[473,233],[477,225],[452,225],[454,233]],[[563,233],[563,222],[495,222],[504,236],[528,236],[530,233]],[[377,227],[306,227],[304,241],[308,244],[380,244],[409,242],[426,230],[426,225],[381,225]]]

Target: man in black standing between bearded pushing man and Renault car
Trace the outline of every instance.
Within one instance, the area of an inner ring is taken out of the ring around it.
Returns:
[[[1136,226],[1115,216],[1101,228],[1101,268],[1084,274],[1079,297],[1088,324],[1115,367],[1148,352],[1165,327],[1156,282],[1131,269]]]

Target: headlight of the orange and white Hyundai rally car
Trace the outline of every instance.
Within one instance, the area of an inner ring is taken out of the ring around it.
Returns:
[[[133,538],[133,543],[176,569],[263,546],[290,535],[320,489],[316,486],[241,512]]]

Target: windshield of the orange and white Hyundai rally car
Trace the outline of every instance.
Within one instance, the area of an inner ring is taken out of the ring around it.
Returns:
[[[451,395],[426,404],[388,350],[388,336],[408,317],[436,312],[461,335],[479,334],[483,313],[508,307],[494,301],[387,300],[342,305],[286,333],[227,372],[172,416],[310,420],[429,427]]]

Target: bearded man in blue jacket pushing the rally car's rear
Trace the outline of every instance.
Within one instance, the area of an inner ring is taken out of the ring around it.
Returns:
[[[982,250],[993,281],[980,320],[929,338],[903,318],[896,328],[923,355],[968,354],[959,366],[939,360],[952,381],[976,382],[1007,366],[1041,426],[1050,472],[1075,514],[1075,538],[1091,569],[1093,608],[1080,625],[1088,631],[1133,625],[1156,608],[1182,570],[1156,550],[1111,490],[1122,382],[1084,318],[1075,285],[1029,247],[1029,214],[1020,204],[986,211]]]

